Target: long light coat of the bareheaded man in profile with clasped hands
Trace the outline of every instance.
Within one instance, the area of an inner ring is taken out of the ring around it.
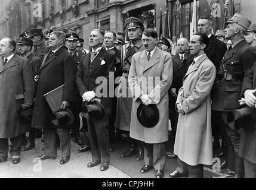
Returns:
[[[185,114],[178,116],[174,154],[190,166],[212,164],[210,92],[215,80],[214,64],[204,54],[190,65],[176,103]]]

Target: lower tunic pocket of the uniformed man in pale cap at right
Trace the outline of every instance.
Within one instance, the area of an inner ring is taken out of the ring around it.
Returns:
[[[241,89],[242,83],[226,86],[223,109],[238,109]]]

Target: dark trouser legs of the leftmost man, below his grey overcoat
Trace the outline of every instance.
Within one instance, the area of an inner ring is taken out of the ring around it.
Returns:
[[[20,134],[17,137],[10,138],[11,148],[10,154],[11,156],[20,156],[21,153],[21,141],[24,134]],[[7,159],[9,151],[8,138],[0,138],[0,158]]]

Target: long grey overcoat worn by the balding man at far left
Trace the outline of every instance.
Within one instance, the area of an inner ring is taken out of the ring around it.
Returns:
[[[14,54],[5,65],[0,60],[0,138],[12,138],[29,131],[17,111],[23,103],[33,105],[34,77],[28,59]]]

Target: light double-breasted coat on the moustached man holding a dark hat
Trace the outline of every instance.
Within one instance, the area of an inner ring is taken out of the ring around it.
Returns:
[[[168,141],[168,90],[172,83],[171,54],[156,47],[150,61],[146,50],[132,56],[129,71],[129,87],[133,96],[130,137],[145,143]],[[138,122],[137,109],[141,104],[138,97],[148,94],[159,110],[159,122],[153,128],[145,128]]]

